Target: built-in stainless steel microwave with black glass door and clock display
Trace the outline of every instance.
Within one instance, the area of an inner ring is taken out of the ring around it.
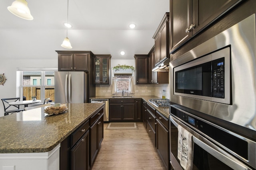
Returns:
[[[230,45],[174,68],[174,95],[231,104]]]

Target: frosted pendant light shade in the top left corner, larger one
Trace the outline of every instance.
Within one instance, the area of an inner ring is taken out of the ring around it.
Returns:
[[[7,9],[14,15],[23,18],[25,20],[33,20],[30,10],[28,8],[28,2],[26,0],[15,0],[11,6]]]

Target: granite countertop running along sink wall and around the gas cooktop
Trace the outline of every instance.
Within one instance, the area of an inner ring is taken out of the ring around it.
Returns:
[[[132,96],[132,95],[131,95]],[[120,98],[122,98],[120,96]],[[90,99],[120,99],[120,98],[113,98],[112,96],[94,96]],[[124,98],[122,98],[124,99]],[[169,107],[156,107],[152,105],[150,102],[148,102],[149,99],[160,99],[160,97],[157,96],[132,96],[132,98],[125,98],[125,99],[143,99],[145,100],[150,106],[154,107],[157,111],[162,113],[165,117],[169,118]]]

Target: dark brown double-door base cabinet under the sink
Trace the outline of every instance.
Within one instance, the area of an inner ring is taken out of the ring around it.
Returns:
[[[134,99],[110,99],[109,121],[135,121]]]

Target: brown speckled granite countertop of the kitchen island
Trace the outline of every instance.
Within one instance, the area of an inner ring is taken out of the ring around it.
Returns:
[[[48,152],[104,104],[67,104],[67,113],[48,116],[44,107],[0,117],[0,153]]]

